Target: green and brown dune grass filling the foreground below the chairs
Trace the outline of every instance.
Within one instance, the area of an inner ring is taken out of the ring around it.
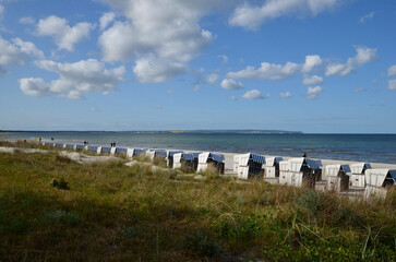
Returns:
[[[395,190],[350,202],[124,163],[0,153],[0,261],[396,261]]]

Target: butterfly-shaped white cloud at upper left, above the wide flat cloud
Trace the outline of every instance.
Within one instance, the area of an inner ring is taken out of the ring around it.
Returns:
[[[38,21],[37,35],[53,37],[59,49],[73,51],[74,45],[87,37],[94,27],[93,24],[86,22],[77,23],[71,27],[65,19],[51,15]]]

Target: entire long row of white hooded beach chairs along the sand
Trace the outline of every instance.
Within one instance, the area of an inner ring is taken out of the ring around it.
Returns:
[[[225,157],[221,154],[204,152],[189,153],[181,151],[106,147],[93,145],[71,145],[43,143],[75,151],[92,151],[97,154],[124,154],[132,158],[146,155],[151,160],[160,158],[170,168],[184,168],[190,171],[205,171],[209,165],[218,174],[225,174]],[[322,165],[321,160],[307,157],[290,158],[265,157],[254,153],[233,157],[233,174],[240,179],[264,178],[271,183],[307,187],[316,190],[336,192],[360,192],[364,196],[385,196],[387,190],[396,184],[396,169],[373,169],[368,163],[350,165]]]

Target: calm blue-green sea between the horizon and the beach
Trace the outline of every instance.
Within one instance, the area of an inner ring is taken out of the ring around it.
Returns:
[[[12,132],[55,141],[118,146],[217,151],[396,164],[396,134],[239,134],[135,132]]]

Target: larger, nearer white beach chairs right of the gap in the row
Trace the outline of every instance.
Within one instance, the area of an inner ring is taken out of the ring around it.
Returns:
[[[322,165],[305,157],[267,157],[253,153],[236,155],[233,171],[241,179],[263,177],[272,183],[336,192],[361,192],[365,198],[385,196],[396,184],[396,169],[371,168],[368,163]]]

